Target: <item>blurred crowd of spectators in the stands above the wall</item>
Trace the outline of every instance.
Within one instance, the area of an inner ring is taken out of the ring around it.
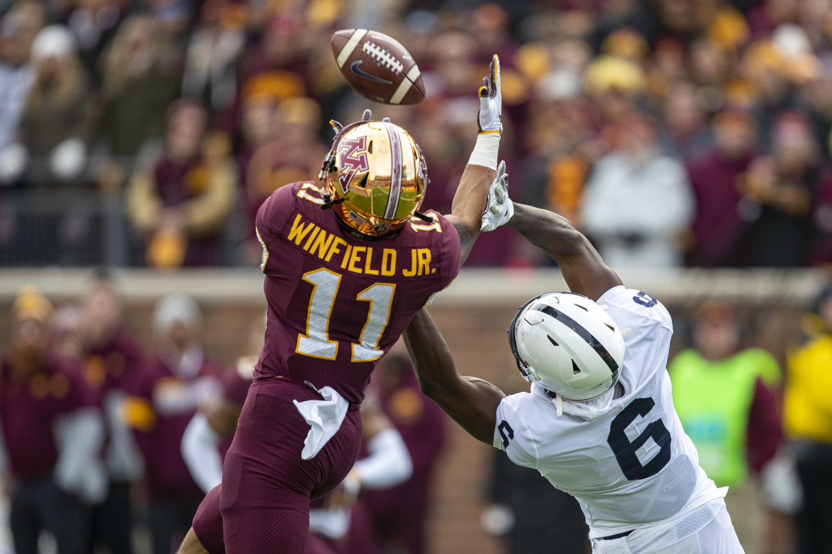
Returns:
[[[427,99],[350,91],[345,27],[399,39]],[[326,122],[370,104],[414,135],[447,213],[495,52],[513,196],[612,267],[832,262],[828,0],[9,0],[0,263],[252,264],[260,203],[315,179]],[[547,263],[482,240],[472,265]]]

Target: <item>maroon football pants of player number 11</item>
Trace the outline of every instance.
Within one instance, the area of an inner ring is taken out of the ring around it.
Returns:
[[[350,409],[324,449],[304,460],[300,452],[310,428],[292,400],[320,400],[320,395],[278,378],[251,385],[225,457],[223,483],[206,496],[194,519],[194,532],[210,554],[221,552],[217,497],[228,554],[303,554],[310,498],[335,488],[355,463],[361,444],[359,409]]]

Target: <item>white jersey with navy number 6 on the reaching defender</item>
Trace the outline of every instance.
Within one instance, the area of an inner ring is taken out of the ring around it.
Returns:
[[[591,538],[678,522],[725,496],[699,467],[673,409],[666,371],[673,325],[665,306],[623,286],[597,303],[624,334],[620,385],[587,402],[564,400],[558,416],[552,398],[532,384],[530,393],[499,404],[494,433],[494,446],[514,463],[577,498]]]

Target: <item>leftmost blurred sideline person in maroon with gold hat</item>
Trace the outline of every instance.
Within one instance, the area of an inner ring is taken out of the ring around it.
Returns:
[[[3,457],[11,476],[10,527],[17,554],[36,554],[52,532],[58,554],[80,554],[86,505],[100,502],[101,413],[77,364],[52,356],[52,306],[24,289],[12,306],[9,350],[0,366]]]

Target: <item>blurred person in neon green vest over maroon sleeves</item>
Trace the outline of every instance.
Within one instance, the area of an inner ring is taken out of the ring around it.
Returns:
[[[760,473],[780,445],[774,391],[782,375],[768,352],[743,348],[740,334],[732,306],[700,306],[693,321],[693,347],[681,351],[668,367],[673,404],[696,445],[701,467],[718,487],[730,487],[726,505],[746,554],[779,552],[772,545],[780,539],[772,541],[760,532],[769,510],[760,507],[759,483],[748,477]],[[780,529],[767,518],[767,528]]]

